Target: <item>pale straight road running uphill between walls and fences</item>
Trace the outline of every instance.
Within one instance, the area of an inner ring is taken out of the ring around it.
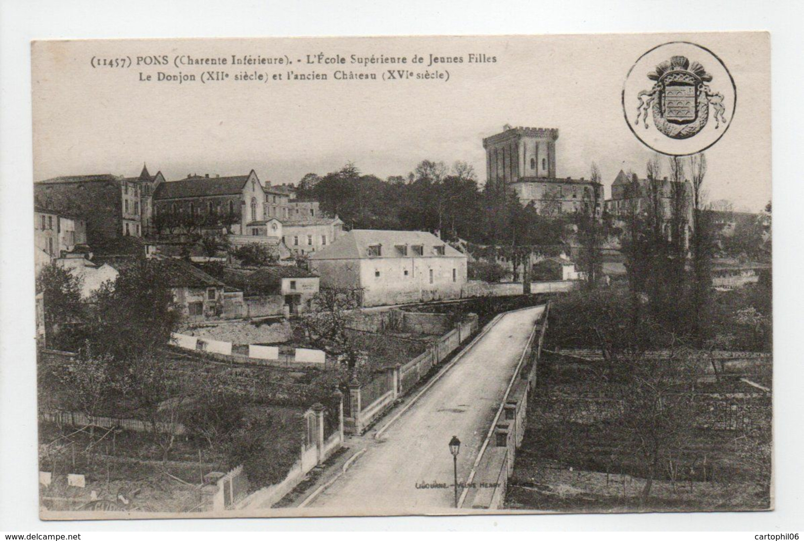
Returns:
[[[381,441],[367,439],[366,453],[310,506],[356,514],[452,507],[453,461],[447,443],[453,434],[461,440],[457,473],[459,481],[466,481],[543,311],[539,306],[500,318]],[[417,489],[417,483],[444,483],[447,488]]]

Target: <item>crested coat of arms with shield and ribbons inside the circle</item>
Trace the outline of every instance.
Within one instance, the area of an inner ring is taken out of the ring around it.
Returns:
[[[713,92],[707,83],[710,75],[699,62],[690,62],[686,56],[672,56],[658,64],[648,79],[656,81],[653,88],[639,92],[637,119],[648,126],[648,110],[653,113],[654,125],[661,133],[673,139],[687,139],[704,129],[709,120],[709,105],[715,117],[715,129],[726,124],[724,96]]]

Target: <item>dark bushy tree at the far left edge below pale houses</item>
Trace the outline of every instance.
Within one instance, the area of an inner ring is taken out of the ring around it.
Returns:
[[[42,268],[36,278],[36,292],[43,293],[45,340],[47,346],[73,346],[74,340],[64,326],[84,319],[80,277],[68,268],[51,263]]]

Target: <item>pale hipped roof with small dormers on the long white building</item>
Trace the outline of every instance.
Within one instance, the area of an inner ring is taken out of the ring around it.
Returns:
[[[380,256],[369,256],[368,248],[380,244],[382,254]],[[408,255],[403,256],[396,246],[408,246]],[[420,245],[423,247],[423,255],[416,256],[409,248]],[[436,246],[444,247],[444,255],[437,256]],[[333,259],[390,259],[390,258],[410,258],[410,257],[466,257],[466,254],[458,252],[455,248],[446,244],[432,233],[422,231],[387,231],[384,229],[352,229],[338,237],[334,243],[327,248],[310,254],[310,260],[333,260]]]

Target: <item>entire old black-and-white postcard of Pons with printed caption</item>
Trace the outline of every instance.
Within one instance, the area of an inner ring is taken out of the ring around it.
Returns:
[[[767,33],[31,47],[42,518],[773,508]]]

